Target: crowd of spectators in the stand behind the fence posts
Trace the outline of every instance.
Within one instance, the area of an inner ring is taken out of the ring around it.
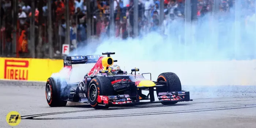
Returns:
[[[66,39],[65,0],[52,0],[52,39],[53,46],[48,44],[48,6],[47,0],[35,1],[35,42],[30,41],[31,1],[18,0],[17,44],[18,51],[25,56],[31,56],[32,43],[35,43],[36,52],[43,53],[38,58],[48,57],[49,48],[53,47],[54,56],[61,54],[62,44]],[[70,43],[71,49],[86,45],[87,41],[87,7],[86,0],[69,0],[70,15]],[[92,36],[97,39],[109,37],[110,31],[110,0],[95,0],[91,2],[93,13]],[[1,3],[1,54],[14,54],[14,17],[12,14],[12,0],[2,0]],[[159,30],[160,0],[139,0],[139,35],[149,31]],[[234,0],[221,0],[220,10],[228,11],[233,7]],[[204,16],[212,11],[213,0],[198,0],[197,16]],[[88,14],[89,15],[89,14]],[[165,26],[175,20],[184,20],[185,0],[164,0]],[[116,38],[127,39],[133,37],[133,0],[114,0],[114,24]],[[41,29],[40,29],[41,27]],[[165,31],[165,34],[168,32]],[[38,51],[39,50],[39,51]]]

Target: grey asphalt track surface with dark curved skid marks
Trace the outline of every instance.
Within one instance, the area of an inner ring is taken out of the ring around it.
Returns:
[[[256,127],[256,86],[185,88],[194,91],[191,92],[193,101],[95,110],[88,104],[72,102],[65,107],[51,108],[46,102],[45,87],[0,84],[0,127],[11,127],[5,120],[10,111],[21,114],[22,120],[16,127],[23,128]]]

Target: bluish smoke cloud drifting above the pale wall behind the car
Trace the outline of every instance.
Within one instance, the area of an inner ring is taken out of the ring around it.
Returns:
[[[104,38],[76,49],[71,55],[116,52],[115,57],[138,60],[251,60],[256,58],[255,7],[246,1],[229,12],[212,15],[208,12],[185,28],[182,20],[169,23],[163,36],[150,32],[126,40]],[[254,20],[250,20],[253,19]],[[247,19],[247,20],[246,20]],[[185,33],[188,33],[186,36]],[[136,57],[136,58],[135,58]]]

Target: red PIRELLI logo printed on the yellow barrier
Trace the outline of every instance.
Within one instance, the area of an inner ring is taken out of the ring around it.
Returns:
[[[4,79],[28,80],[28,60],[4,60]]]

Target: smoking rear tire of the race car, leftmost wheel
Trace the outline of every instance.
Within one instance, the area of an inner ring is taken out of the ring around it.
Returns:
[[[61,86],[64,87],[63,90],[61,90]],[[66,106],[67,101],[63,101],[63,99],[67,99],[68,94],[69,88],[64,80],[53,79],[52,77],[48,78],[45,86],[45,95],[49,106]]]

